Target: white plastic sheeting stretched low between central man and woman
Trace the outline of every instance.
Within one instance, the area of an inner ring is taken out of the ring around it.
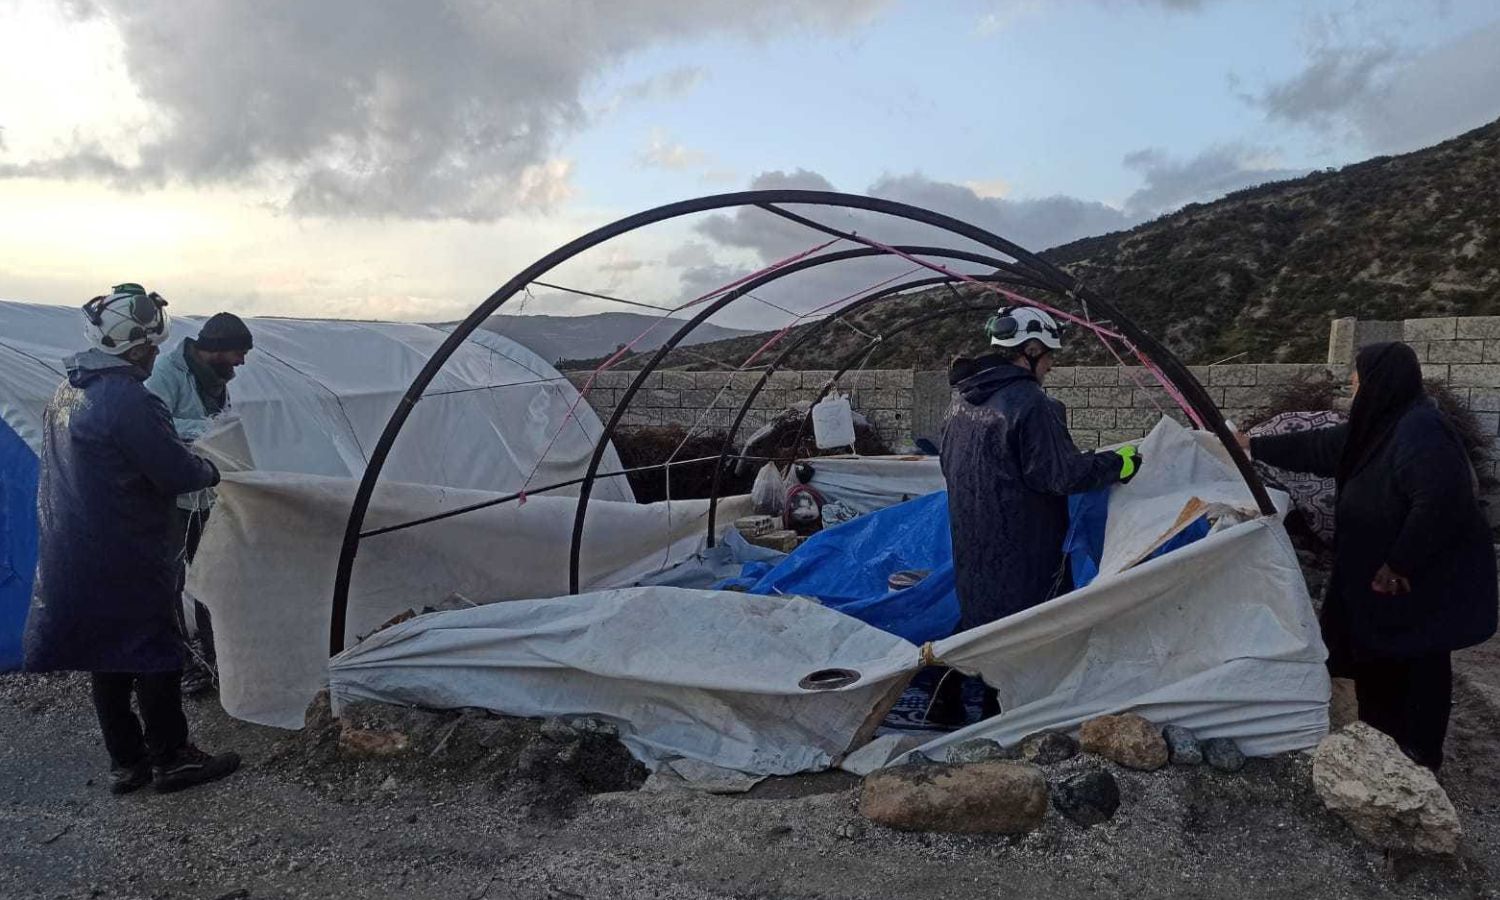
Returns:
[[[1326,651],[1286,530],[1257,519],[1029,610],[938,642],[1005,710],[921,750],[969,738],[1014,744],[1050,728],[1136,711],[1251,756],[1328,732]]]

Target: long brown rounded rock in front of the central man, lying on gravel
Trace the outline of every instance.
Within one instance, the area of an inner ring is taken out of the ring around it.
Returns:
[[[904,831],[1022,834],[1047,814],[1047,778],[1017,762],[903,765],[864,780],[860,814]]]

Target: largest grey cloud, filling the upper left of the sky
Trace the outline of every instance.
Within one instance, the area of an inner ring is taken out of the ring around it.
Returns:
[[[33,168],[266,184],[308,214],[492,219],[566,194],[558,140],[585,123],[586,84],[622,58],[702,34],[844,28],[882,3],[74,0],[120,28],[159,116],[138,162],[111,158],[111,171],[84,150]]]

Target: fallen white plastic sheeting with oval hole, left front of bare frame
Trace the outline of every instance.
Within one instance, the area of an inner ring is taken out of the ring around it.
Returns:
[[[624,588],[418,616],[330,664],[351,700],[603,716],[651,768],[675,758],[752,774],[832,765],[906,682],[918,648],[816,603]],[[807,690],[819,669],[858,681]]]

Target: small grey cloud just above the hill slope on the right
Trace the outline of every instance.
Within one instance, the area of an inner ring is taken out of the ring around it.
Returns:
[[[1188,159],[1174,159],[1158,148],[1128,153],[1125,165],[1140,172],[1144,184],[1125,201],[1125,213],[1137,220],[1148,219],[1188,202],[1306,174],[1306,170],[1268,165],[1272,156],[1246,144],[1220,144]]]

